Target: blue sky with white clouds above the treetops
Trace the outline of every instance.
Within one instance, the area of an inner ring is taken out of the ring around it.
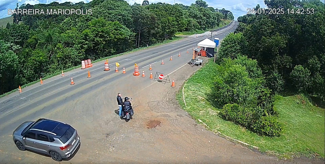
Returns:
[[[88,3],[91,0],[0,0],[0,18],[5,18],[10,15],[8,15],[8,9],[15,9],[16,3],[19,4],[30,4],[30,5],[36,5],[36,4],[49,4],[52,2],[85,2]],[[133,5],[135,2],[142,4],[143,0],[126,0],[130,5]],[[324,2],[325,0],[320,0]],[[169,3],[169,4],[183,4],[183,5],[191,5],[192,3],[195,3],[195,0],[149,0],[149,3]],[[261,7],[266,7],[264,4],[264,0],[205,0],[209,7],[222,9],[225,8],[226,10],[229,10],[233,13],[235,20],[237,20],[238,17],[246,15],[248,8],[253,8],[257,4],[260,4]]]

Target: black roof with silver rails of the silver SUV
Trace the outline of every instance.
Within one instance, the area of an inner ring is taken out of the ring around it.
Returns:
[[[61,137],[69,128],[72,127],[63,122],[49,119],[38,119],[29,129],[45,131]]]

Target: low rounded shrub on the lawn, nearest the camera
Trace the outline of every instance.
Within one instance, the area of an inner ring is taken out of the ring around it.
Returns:
[[[270,137],[279,136],[283,132],[284,125],[275,116],[262,116],[252,124],[252,129],[260,134]]]

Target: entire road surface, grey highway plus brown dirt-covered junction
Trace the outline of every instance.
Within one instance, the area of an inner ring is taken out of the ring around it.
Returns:
[[[231,31],[233,27],[223,34]],[[74,70],[0,99],[0,163],[58,163],[49,157],[19,151],[12,142],[12,131],[21,122],[38,118],[64,121],[78,130],[80,149],[72,159],[61,162],[64,164],[275,163],[272,157],[204,130],[175,102],[181,83],[198,69],[186,64],[192,56],[186,50],[203,39],[188,38],[113,58],[110,64],[121,64],[119,73],[114,73],[113,67],[104,72],[103,62],[99,62],[89,69],[91,78],[86,78],[88,69]],[[177,57],[178,52],[181,57]],[[170,56],[173,61],[169,61]],[[160,65],[162,59],[165,65]],[[145,70],[145,78],[132,75],[134,63],[139,65],[140,72]],[[149,80],[150,63],[154,63],[153,74],[169,74],[170,80],[175,79],[176,88],[171,88],[170,83]],[[121,74],[123,67],[127,74]],[[70,77],[75,85],[69,85]],[[116,114],[118,92],[134,98],[135,116],[129,122]]]

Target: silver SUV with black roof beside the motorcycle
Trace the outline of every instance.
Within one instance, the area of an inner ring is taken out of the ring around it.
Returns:
[[[49,119],[22,123],[14,131],[13,140],[19,150],[50,155],[56,161],[69,158],[80,145],[80,137],[72,126]]]

